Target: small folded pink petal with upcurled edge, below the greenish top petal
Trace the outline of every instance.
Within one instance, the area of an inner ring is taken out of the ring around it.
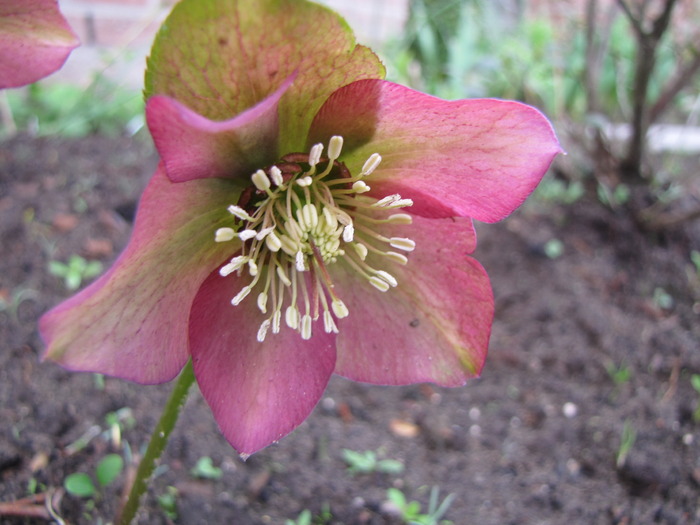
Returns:
[[[148,99],[148,127],[170,180],[247,176],[274,162],[277,106],[294,76],[256,106],[222,122],[198,115],[164,95]]]

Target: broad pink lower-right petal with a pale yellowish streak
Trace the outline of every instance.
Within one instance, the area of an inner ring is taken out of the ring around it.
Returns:
[[[494,305],[486,272],[466,255],[476,243],[471,221],[414,217],[381,233],[416,242],[405,266],[367,258],[397,287],[380,292],[346,265],[329,268],[350,312],[338,322],[335,372],[390,385],[457,386],[479,375]]]

